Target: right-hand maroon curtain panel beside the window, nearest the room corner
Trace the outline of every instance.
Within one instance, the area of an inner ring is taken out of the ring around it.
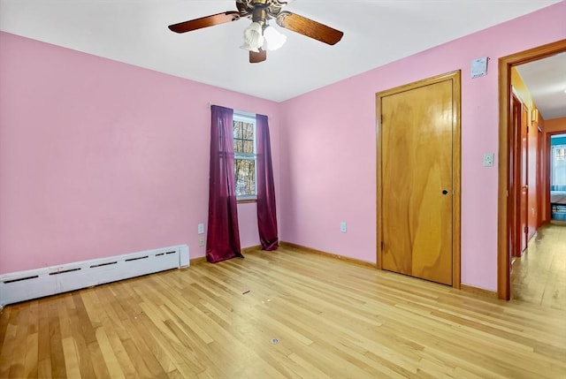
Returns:
[[[257,137],[257,229],[263,250],[279,246],[275,189],[273,186],[272,148],[267,116],[256,115]]]

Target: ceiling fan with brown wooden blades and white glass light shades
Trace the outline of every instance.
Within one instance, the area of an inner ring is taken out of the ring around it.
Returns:
[[[265,49],[279,49],[287,37],[270,27],[269,21],[275,19],[279,27],[285,27],[296,33],[306,35],[320,42],[333,45],[339,42],[343,33],[327,27],[312,19],[299,16],[283,7],[294,0],[236,0],[238,11],[225,11],[200,19],[191,19],[169,26],[175,33],[186,33],[203,27],[213,27],[238,19],[251,19],[252,24],[244,30],[242,49],[249,50],[249,63],[264,62],[267,58]],[[264,49],[265,47],[265,49]]]

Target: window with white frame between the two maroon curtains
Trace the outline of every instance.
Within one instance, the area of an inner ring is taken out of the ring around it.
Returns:
[[[236,198],[256,200],[256,115],[234,111],[233,152]]]

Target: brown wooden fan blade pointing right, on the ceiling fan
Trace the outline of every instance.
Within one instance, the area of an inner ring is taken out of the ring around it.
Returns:
[[[328,43],[329,45],[339,42],[342,35],[344,35],[340,30],[327,27],[324,24],[291,13],[290,11],[281,11],[277,16],[277,24],[279,27],[285,27],[320,42]]]

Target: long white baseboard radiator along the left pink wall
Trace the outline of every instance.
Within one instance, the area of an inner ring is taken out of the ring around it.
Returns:
[[[3,274],[0,275],[0,308],[188,265],[188,246],[179,245]]]

